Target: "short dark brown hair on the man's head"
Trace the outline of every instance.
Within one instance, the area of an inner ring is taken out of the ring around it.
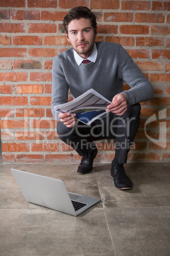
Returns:
[[[68,25],[72,20],[80,20],[81,18],[88,18],[93,30],[96,32],[96,16],[88,7],[84,6],[74,7],[69,11],[69,13],[67,13],[67,15],[65,15],[63,18],[65,32],[68,34]]]

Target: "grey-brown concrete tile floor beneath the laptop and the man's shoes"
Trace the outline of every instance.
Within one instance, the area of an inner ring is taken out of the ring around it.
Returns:
[[[1,256],[169,256],[170,164],[126,164],[132,190],[110,178],[110,164],[77,174],[78,164],[0,164]],[[30,204],[11,167],[65,181],[70,192],[101,198],[79,217]]]

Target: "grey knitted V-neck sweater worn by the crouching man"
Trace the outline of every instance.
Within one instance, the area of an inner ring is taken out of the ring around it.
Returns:
[[[66,103],[69,90],[75,98],[92,88],[112,101],[116,94],[122,92],[125,81],[131,87],[123,92],[129,105],[154,97],[152,85],[121,45],[96,42],[96,47],[98,55],[95,63],[78,66],[73,48],[54,58],[51,111],[55,119],[60,120],[53,106]]]

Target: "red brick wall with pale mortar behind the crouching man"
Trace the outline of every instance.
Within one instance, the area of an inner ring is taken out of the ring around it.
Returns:
[[[58,139],[50,110],[53,57],[69,48],[62,19],[78,5],[96,13],[98,40],[121,43],[154,87],[154,99],[142,103],[129,162],[169,161],[169,1],[0,0],[3,162],[80,159]],[[157,120],[146,125],[151,116]],[[112,160],[112,142],[99,141],[98,150],[96,161]]]

